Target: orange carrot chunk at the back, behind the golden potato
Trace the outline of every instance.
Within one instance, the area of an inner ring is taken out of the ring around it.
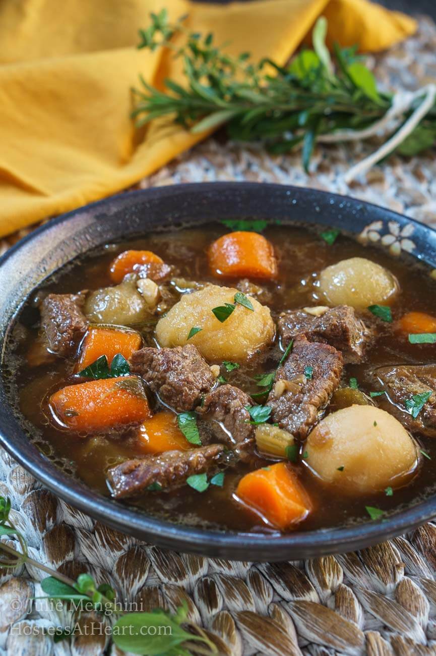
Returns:
[[[214,276],[277,277],[273,246],[257,232],[239,231],[223,235],[210,245],[208,259]]]

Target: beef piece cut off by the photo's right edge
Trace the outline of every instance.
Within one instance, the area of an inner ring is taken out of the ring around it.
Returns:
[[[436,365],[399,365],[380,367],[374,372],[384,386],[387,400],[380,396],[383,408],[401,421],[408,430],[436,437]],[[416,418],[412,407],[416,394],[431,396],[424,403]],[[390,401],[390,403],[389,403]]]

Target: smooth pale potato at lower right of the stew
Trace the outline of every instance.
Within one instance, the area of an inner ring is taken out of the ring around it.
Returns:
[[[306,451],[312,472],[348,493],[403,485],[418,465],[418,448],[404,426],[370,405],[325,417],[309,434]]]

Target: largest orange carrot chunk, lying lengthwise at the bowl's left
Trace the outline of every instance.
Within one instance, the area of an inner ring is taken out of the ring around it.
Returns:
[[[77,432],[92,433],[151,417],[141,380],[136,376],[68,385],[50,396],[50,408]]]

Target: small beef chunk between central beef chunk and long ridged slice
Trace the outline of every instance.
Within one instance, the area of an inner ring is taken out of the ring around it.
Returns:
[[[250,424],[246,409],[247,405],[252,404],[243,390],[233,385],[220,385],[207,394],[203,406],[197,407],[197,413],[205,415],[206,419],[222,423],[224,429],[217,424],[217,439],[235,451],[243,461],[252,459],[254,449],[254,426]]]

